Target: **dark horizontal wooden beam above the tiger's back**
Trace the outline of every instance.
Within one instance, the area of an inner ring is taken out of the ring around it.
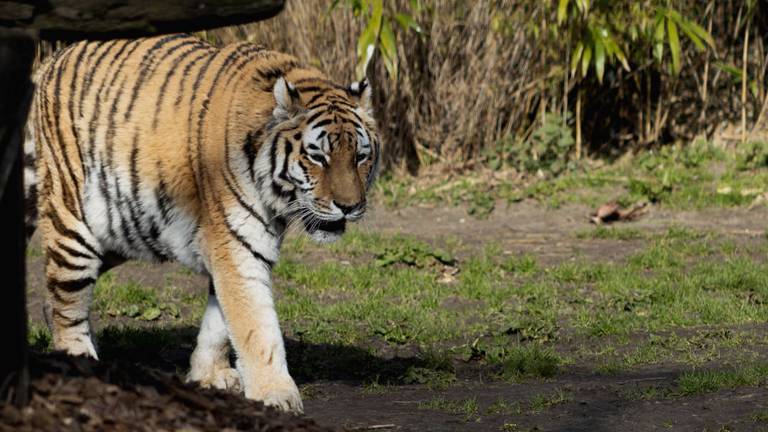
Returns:
[[[42,39],[192,32],[271,18],[285,0],[0,0],[0,27]]]

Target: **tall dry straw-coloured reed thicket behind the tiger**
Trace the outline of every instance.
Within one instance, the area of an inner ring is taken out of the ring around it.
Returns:
[[[239,40],[263,44],[297,56],[339,83],[351,82],[364,18],[355,17],[344,1],[331,11],[331,3],[288,0],[283,13],[271,20],[201,35],[217,44]],[[410,9],[409,0],[384,3],[390,11]],[[710,54],[687,49],[679,77],[659,72],[652,62],[633,63],[631,72],[607,71],[605,85],[589,79],[579,87],[565,77],[567,41],[555,37],[553,43],[533,36],[534,30],[554,25],[552,9],[543,7],[545,3],[422,0],[423,8],[414,17],[422,34],[395,26],[397,79],[391,79],[375,57],[368,73],[384,135],[385,167],[415,174],[420,166],[436,162],[443,173],[475,170],[488,150],[504,159],[505,146],[526,140],[547,112],[564,116],[572,112],[579,89],[584,95],[582,136],[589,155],[619,156],[702,135],[715,141],[739,135],[732,125],[740,118],[741,86],[715,64],[741,61],[740,1],[680,2],[678,6],[689,14],[706,11],[696,18],[711,26],[717,50]],[[704,8],[705,4],[711,7]],[[765,34],[766,16],[756,13],[757,34]],[[768,136],[760,134],[768,129],[764,39],[754,38],[750,48],[749,71],[756,94],[748,95],[746,112],[749,124],[758,124],[752,129],[753,139]],[[52,47],[43,48],[45,56]],[[571,116],[568,127],[573,126]],[[504,145],[497,146],[500,142]]]

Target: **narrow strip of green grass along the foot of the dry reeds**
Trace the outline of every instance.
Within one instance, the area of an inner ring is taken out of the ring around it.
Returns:
[[[431,184],[384,176],[376,195],[391,207],[465,204],[469,213],[478,217],[493,211],[496,200],[515,202],[523,198],[551,207],[581,203],[594,208],[606,197],[624,206],[638,201],[674,209],[745,206],[768,184],[768,170],[762,162],[765,148],[764,143],[750,143],[735,151],[723,151],[698,140],[664,146],[607,166],[582,163],[559,176],[529,176],[526,182],[516,176],[515,180],[499,181],[498,176],[488,175],[486,180],[477,173]]]

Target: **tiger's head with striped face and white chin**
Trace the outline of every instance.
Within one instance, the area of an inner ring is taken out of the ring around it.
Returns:
[[[276,210],[320,243],[337,240],[366,211],[379,164],[379,137],[366,80],[294,85],[278,78],[270,166]]]

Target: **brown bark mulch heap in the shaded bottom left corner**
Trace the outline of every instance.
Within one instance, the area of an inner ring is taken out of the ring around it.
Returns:
[[[45,354],[30,363],[30,403],[0,404],[0,431],[335,430],[127,362]]]

